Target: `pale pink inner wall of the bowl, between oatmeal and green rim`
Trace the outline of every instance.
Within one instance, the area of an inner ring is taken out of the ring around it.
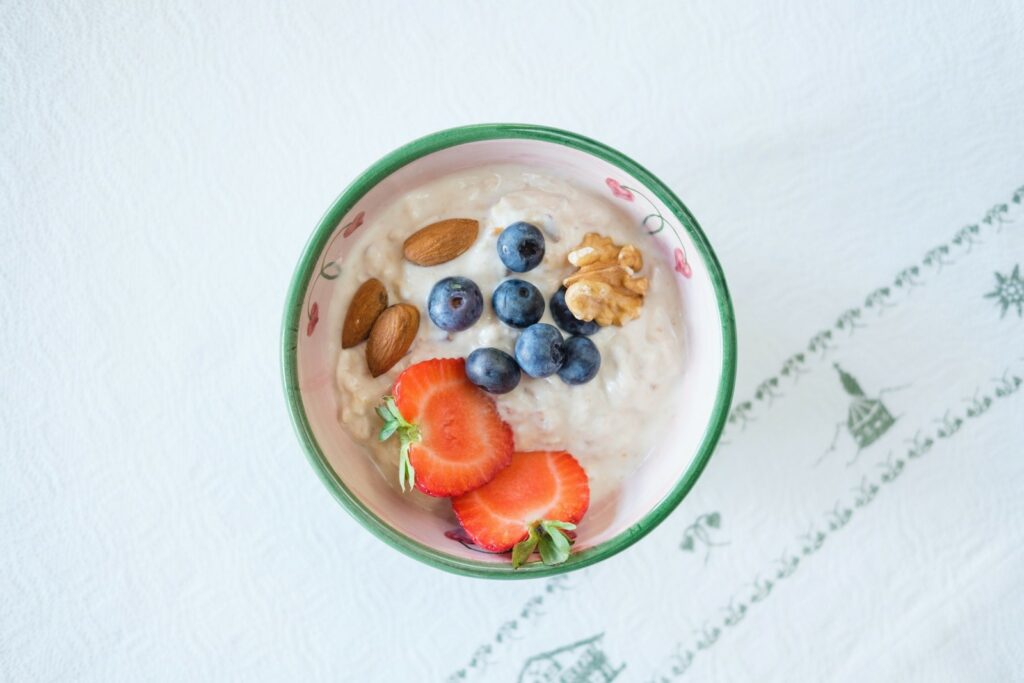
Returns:
[[[488,164],[522,164],[571,180],[589,191],[607,197],[631,216],[636,224],[637,244],[653,241],[648,253],[678,265],[676,250],[682,247],[688,267],[678,268],[676,279],[682,300],[686,348],[682,400],[668,432],[656,449],[624,480],[613,504],[592,510],[579,528],[577,548],[592,548],[627,531],[651,512],[678,483],[698,453],[712,420],[719,383],[723,373],[723,321],[708,264],[702,261],[690,236],[639,179],[617,166],[586,152],[562,144],[532,139],[496,139],[468,142],[447,147],[403,166],[373,186],[335,226],[335,231],[349,224],[360,212],[372,216],[410,189],[427,180]],[[608,179],[611,179],[609,184]],[[640,189],[660,212],[672,229],[653,237],[643,225],[652,213],[650,204],[626,201],[612,193],[612,185]],[[328,241],[325,260],[344,261],[345,254],[359,240],[373,240],[370,229],[356,230],[348,239]],[[680,245],[681,241],[681,245]],[[649,244],[649,242],[648,242]],[[310,291],[309,288],[312,287]],[[331,467],[351,494],[384,524],[420,544],[442,553],[477,562],[507,564],[506,557],[475,552],[444,536],[458,526],[454,516],[433,515],[411,504],[396,493],[377,470],[372,458],[353,442],[338,421],[338,396],[334,389],[335,367],[339,351],[341,311],[331,305],[331,281],[307,284],[303,298],[306,310],[316,303],[322,319],[307,334],[306,316],[301,321],[297,343],[298,386],[312,434]],[[332,313],[332,311],[335,311]],[[639,426],[638,426],[639,428]]]

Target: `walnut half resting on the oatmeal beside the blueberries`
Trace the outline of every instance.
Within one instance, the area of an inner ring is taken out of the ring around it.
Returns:
[[[643,267],[636,247],[620,247],[610,238],[588,232],[568,260],[580,266],[562,282],[565,304],[573,315],[602,326],[622,326],[639,317],[649,283],[636,274]]]

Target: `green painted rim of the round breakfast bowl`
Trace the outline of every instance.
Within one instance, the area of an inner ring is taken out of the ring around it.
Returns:
[[[297,349],[302,302],[321,251],[338,227],[341,219],[375,185],[399,168],[441,150],[468,142],[496,139],[529,139],[554,142],[597,157],[639,180],[672,212],[679,220],[682,229],[686,230],[693,241],[701,259],[708,265],[719,314],[722,318],[722,374],[719,378],[711,419],[695,457],[676,481],[672,490],[654,505],[643,518],[604,543],[579,553],[572,553],[569,559],[562,564],[549,566],[535,562],[518,569],[513,569],[511,563],[484,563],[449,555],[407,537],[374,514],[345,485],[321,450],[306,417],[298,383]],[[654,174],[621,152],[577,133],[531,124],[476,124],[441,130],[398,147],[360,173],[332,203],[302,250],[302,255],[299,257],[289,286],[281,335],[285,399],[292,424],[309,464],[334,498],[356,521],[395,550],[445,571],[484,579],[539,579],[574,571],[626,550],[652,531],[682,502],[711,459],[728,417],[736,376],[736,328],[732,300],[729,297],[725,275],[718,257],[689,209]]]

